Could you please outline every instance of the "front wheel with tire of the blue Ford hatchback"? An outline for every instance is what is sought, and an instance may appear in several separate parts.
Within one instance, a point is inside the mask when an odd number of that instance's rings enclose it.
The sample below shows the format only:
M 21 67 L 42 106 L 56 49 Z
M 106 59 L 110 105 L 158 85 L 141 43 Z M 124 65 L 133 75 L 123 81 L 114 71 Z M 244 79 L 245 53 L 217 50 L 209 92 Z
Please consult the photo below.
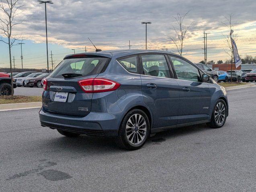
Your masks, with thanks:
M 211 128 L 221 128 L 227 119 L 227 105 L 224 100 L 217 100 L 211 114 L 211 122 L 207 123 Z

